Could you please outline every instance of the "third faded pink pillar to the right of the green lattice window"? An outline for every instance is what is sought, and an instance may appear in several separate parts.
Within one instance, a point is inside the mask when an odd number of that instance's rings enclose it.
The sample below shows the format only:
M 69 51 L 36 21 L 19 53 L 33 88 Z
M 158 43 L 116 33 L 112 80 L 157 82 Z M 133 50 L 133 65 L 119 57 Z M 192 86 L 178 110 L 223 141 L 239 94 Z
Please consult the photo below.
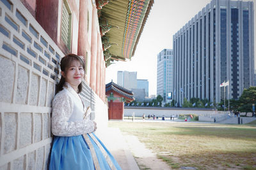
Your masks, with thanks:
M 100 33 L 98 33 L 97 37 L 97 64 L 96 64 L 96 94 L 100 96 L 100 63 L 101 63 L 101 48 L 100 46 L 102 45 L 101 43 L 101 36 Z

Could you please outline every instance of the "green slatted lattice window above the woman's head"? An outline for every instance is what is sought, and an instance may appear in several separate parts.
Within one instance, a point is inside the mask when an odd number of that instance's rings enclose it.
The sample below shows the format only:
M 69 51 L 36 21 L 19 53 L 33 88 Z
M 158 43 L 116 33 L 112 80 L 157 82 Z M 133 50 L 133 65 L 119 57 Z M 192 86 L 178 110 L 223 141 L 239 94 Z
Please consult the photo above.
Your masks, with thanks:
M 72 23 L 72 14 L 68 3 L 66 0 L 63 0 L 62 6 L 62 21 L 61 21 L 61 39 L 67 45 L 70 50 L 71 46 L 71 23 Z

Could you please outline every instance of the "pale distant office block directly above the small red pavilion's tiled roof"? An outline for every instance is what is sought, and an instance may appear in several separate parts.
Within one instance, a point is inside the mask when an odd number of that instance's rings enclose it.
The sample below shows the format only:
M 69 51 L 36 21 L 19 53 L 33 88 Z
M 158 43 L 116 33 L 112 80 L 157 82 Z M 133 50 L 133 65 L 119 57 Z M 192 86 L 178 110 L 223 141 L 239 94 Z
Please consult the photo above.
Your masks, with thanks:
M 129 71 L 118 71 L 117 72 L 117 84 L 126 89 L 136 89 L 137 88 L 137 72 Z

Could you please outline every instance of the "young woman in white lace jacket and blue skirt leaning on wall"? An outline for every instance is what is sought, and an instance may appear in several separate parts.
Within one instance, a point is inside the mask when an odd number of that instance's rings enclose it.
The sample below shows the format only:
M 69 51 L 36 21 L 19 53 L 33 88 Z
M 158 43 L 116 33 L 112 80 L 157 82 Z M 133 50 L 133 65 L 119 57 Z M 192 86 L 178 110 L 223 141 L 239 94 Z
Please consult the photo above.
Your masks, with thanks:
M 61 59 L 61 80 L 52 101 L 52 134 L 49 169 L 121 169 L 102 142 L 93 134 L 94 121 L 86 117 L 82 91 L 84 62 L 69 54 Z M 87 111 L 87 114 L 89 114 Z

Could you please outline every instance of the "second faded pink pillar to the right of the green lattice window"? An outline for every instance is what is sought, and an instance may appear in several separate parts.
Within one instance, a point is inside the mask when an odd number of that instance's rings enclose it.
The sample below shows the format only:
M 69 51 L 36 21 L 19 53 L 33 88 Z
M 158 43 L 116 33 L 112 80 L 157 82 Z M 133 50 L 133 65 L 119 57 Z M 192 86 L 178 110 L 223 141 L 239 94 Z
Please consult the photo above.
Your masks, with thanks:
M 96 90 L 96 62 L 97 62 L 97 9 L 93 6 L 92 9 L 92 46 L 91 46 L 91 73 L 90 73 L 90 87 L 93 91 Z

